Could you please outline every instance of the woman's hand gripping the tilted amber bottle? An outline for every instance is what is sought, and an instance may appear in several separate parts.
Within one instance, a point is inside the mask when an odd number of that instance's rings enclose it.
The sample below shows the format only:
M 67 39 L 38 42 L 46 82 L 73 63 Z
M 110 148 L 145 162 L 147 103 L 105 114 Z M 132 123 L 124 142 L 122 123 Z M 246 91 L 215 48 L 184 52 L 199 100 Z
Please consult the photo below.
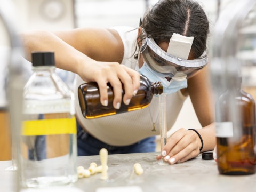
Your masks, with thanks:
M 83 66 L 77 74 L 86 82 L 97 82 L 100 90 L 100 102 L 103 106 L 108 105 L 107 83 L 113 86 L 114 100 L 113 106 L 119 109 L 122 102 L 122 84 L 125 94 L 123 102 L 129 105 L 133 95 L 140 86 L 140 75 L 138 71 L 128 68 L 118 62 L 98 62 L 90 63 L 90 66 Z

